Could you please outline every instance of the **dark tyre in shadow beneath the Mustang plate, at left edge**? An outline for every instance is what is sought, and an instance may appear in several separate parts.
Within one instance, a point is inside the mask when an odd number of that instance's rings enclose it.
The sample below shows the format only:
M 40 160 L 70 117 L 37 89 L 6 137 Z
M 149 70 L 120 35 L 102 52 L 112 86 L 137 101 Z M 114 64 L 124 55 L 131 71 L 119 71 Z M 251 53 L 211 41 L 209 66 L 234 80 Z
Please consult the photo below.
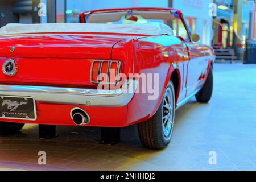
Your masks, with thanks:
M 9 123 L 9 122 L 0 122 L 0 135 L 7 136 L 18 133 L 24 124 L 22 123 Z

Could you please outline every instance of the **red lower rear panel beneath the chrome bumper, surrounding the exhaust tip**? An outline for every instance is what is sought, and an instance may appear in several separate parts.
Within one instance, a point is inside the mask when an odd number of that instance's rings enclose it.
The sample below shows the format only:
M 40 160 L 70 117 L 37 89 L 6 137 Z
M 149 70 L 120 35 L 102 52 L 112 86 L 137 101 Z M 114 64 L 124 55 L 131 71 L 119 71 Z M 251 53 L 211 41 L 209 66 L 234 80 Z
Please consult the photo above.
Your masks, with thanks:
M 36 102 L 36 121 L 1 119 L 3 122 L 29 123 L 40 125 L 77 126 L 70 115 L 73 108 L 79 107 L 86 111 L 90 117 L 88 125 L 95 127 L 126 127 L 127 106 L 122 107 L 91 107 L 77 105 L 61 105 L 44 102 Z

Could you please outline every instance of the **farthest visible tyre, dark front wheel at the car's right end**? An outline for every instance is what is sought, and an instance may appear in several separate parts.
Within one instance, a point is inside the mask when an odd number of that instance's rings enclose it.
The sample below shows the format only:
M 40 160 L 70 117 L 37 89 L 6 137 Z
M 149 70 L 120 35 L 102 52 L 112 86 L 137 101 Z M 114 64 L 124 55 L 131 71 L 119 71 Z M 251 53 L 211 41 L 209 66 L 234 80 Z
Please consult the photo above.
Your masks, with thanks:
M 207 103 L 212 98 L 213 92 L 213 72 L 212 66 L 210 66 L 207 81 L 204 84 L 203 89 L 200 90 L 199 93 L 196 94 L 196 100 L 201 103 Z

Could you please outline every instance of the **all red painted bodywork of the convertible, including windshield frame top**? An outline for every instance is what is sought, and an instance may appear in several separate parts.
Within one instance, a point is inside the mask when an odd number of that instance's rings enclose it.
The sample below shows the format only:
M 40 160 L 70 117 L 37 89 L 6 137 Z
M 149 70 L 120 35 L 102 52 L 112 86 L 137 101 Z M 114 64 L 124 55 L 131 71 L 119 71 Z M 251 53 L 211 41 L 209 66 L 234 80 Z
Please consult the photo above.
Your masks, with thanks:
M 121 10 L 128 9 L 90 12 Z M 151 11 L 152 8 L 136 10 Z M 180 11 L 177 12 L 181 15 Z M 80 15 L 81 22 L 83 17 L 84 13 Z M 136 93 L 130 103 L 122 107 L 36 102 L 38 119 L 31 123 L 47 125 L 74 125 L 69 115 L 73 107 L 80 107 L 89 114 L 91 122 L 86 126 L 125 127 L 146 121 L 156 113 L 174 71 L 179 75 L 176 101 L 181 102 L 203 86 L 214 59 L 212 48 L 168 35 L 56 32 L 1 36 L 0 44 L 0 64 L 14 59 L 19 65 L 18 73 L 13 77 L 0 73 L 1 84 L 97 88 L 96 84 L 90 83 L 90 68 L 94 59 L 119 60 L 126 75 L 159 74 L 159 96 L 156 100 L 148 100 L 148 93 Z M 13 53 L 9 51 L 11 46 L 16 47 Z M 138 89 L 142 89 L 141 86 Z

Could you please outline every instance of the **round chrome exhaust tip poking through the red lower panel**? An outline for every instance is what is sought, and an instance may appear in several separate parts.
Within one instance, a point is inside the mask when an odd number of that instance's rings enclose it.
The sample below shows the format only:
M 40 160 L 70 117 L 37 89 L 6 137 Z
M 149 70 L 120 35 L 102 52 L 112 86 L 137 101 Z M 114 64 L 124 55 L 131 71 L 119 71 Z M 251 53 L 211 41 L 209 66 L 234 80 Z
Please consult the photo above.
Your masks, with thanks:
M 89 115 L 80 108 L 74 108 L 70 112 L 71 118 L 73 122 L 80 126 L 80 125 L 87 125 L 90 122 Z

